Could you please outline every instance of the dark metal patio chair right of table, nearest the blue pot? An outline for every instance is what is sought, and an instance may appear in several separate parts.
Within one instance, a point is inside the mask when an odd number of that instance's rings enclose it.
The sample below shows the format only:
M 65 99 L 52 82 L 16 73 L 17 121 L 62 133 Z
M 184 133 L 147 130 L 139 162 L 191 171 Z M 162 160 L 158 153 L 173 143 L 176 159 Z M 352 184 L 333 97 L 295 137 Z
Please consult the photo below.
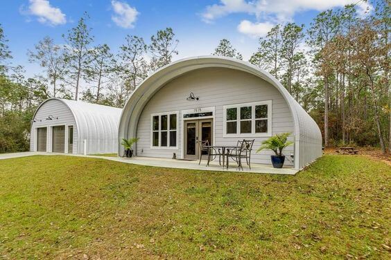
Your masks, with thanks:
M 243 170 L 242 159 L 245 159 L 248 167 L 251 169 L 251 151 L 254 140 L 238 140 L 238 144 L 233 149 L 227 151 L 227 169 L 229 167 L 229 158 L 232 158 L 237 164 L 238 168 Z

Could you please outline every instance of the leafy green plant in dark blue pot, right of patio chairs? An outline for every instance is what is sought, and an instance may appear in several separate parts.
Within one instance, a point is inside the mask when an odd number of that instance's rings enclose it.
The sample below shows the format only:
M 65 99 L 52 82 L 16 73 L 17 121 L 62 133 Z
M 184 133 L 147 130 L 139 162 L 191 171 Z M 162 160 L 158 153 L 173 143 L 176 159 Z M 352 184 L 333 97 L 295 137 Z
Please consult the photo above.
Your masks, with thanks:
M 262 151 L 263 149 L 270 149 L 275 152 L 275 155 L 270 156 L 272 159 L 272 165 L 275 168 L 282 168 L 284 166 L 285 156 L 282 154 L 282 150 L 289 145 L 292 145 L 292 141 L 288 141 L 290 133 L 277 133 L 275 136 L 264 140 L 261 147 L 257 150 Z

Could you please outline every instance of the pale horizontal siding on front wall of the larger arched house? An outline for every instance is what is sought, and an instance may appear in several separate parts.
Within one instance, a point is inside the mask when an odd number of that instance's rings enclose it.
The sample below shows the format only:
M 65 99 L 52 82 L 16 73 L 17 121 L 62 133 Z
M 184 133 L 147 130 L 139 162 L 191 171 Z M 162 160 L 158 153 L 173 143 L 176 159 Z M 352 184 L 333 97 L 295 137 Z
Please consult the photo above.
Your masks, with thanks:
M 197 102 L 187 101 L 186 97 L 193 92 L 200 97 Z M 171 158 L 175 152 L 180 158 L 182 155 L 182 114 L 180 113 L 178 149 L 150 149 L 150 114 L 167 111 L 181 111 L 184 109 L 215 106 L 215 144 L 236 145 L 243 138 L 223 138 L 223 106 L 272 100 L 272 134 L 294 131 L 293 117 L 284 97 L 270 83 L 259 77 L 228 68 L 207 68 L 192 71 L 166 84 L 150 99 L 144 107 L 137 126 L 137 156 Z M 253 139 L 252 137 L 244 137 Z M 254 163 L 270 164 L 270 151 L 255 153 L 262 140 L 255 138 Z M 290 137 L 293 140 L 293 136 Z M 289 161 L 293 153 L 293 146 L 286 148 L 284 154 L 288 156 L 286 165 L 293 165 Z

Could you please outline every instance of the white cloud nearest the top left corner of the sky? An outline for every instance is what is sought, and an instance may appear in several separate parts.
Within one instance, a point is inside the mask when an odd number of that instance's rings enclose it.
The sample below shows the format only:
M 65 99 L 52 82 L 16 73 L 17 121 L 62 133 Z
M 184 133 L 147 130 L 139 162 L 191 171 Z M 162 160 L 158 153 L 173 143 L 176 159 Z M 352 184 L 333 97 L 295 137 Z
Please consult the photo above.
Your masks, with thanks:
M 42 24 L 57 26 L 66 24 L 67 19 L 60 8 L 51 6 L 49 0 L 29 0 L 30 5 L 25 11 L 26 15 L 36 16 Z

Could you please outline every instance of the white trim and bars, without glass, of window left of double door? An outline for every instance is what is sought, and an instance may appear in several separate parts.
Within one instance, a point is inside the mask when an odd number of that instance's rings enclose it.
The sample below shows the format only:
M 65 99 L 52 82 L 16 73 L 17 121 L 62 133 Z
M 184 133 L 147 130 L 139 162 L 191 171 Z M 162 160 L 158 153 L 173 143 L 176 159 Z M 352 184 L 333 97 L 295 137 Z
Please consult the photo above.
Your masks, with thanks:
M 159 130 L 153 130 L 153 117 L 158 115 L 159 116 Z M 162 147 L 162 115 L 167 115 L 167 129 L 163 130 L 167 132 L 167 146 Z M 177 115 L 177 128 L 175 130 L 170 130 L 170 115 Z M 175 144 L 175 147 L 170 146 L 170 132 L 176 131 L 176 139 L 177 142 Z M 153 146 L 153 133 L 158 132 L 159 133 L 159 146 Z M 168 112 L 161 112 L 161 113 L 151 113 L 150 114 L 150 149 L 166 149 L 166 150 L 177 150 L 178 149 L 178 133 L 179 132 L 179 111 L 168 111 Z

